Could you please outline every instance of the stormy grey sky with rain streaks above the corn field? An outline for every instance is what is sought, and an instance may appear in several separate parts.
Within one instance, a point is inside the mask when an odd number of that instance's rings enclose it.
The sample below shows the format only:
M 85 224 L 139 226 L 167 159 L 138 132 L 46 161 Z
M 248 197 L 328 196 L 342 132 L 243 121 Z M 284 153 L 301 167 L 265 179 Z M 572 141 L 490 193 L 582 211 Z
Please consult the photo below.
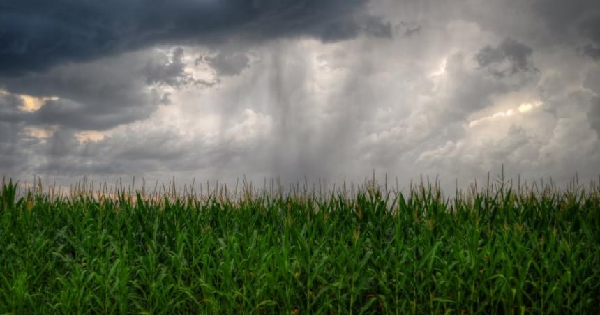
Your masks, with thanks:
M 8 0 L 0 175 L 600 176 L 597 0 Z

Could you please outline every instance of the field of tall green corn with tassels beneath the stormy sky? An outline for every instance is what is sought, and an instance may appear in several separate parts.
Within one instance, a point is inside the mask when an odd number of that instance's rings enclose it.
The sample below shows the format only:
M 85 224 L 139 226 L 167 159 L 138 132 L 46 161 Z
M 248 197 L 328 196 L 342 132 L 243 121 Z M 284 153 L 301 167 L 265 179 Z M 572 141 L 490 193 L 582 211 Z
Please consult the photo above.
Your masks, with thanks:
M 0 314 L 593 314 L 600 187 L 3 183 Z

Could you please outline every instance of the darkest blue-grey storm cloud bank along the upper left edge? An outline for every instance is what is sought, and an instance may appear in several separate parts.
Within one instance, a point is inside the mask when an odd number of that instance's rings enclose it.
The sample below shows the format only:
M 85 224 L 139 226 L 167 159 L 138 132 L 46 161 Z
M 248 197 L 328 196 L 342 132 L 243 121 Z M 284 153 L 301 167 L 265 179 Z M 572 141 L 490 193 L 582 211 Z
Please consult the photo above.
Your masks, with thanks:
M 368 0 L 24 0 L 0 3 L 0 75 L 157 44 L 389 36 Z

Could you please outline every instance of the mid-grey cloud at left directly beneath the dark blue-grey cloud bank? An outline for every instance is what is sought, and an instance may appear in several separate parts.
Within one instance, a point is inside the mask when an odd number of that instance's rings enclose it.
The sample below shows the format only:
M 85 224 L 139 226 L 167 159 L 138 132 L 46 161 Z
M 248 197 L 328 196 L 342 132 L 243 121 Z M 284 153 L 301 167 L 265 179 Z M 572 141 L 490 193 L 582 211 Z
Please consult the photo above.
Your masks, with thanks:
M 3 119 L 31 125 L 60 125 L 79 130 L 105 130 L 147 118 L 167 95 L 147 86 L 144 67 L 156 58 L 149 54 L 126 54 L 92 63 L 57 66 L 43 73 L 5 78 L 0 89 L 13 94 L 56 96 L 35 112 L 11 109 Z M 167 65 L 168 67 L 169 65 Z M 161 73 L 156 79 L 182 84 L 180 73 Z M 16 96 L 14 96 L 16 97 Z M 2 106 L 3 112 L 8 110 Z M 14 108 L 14 107 L 13 107 Z

